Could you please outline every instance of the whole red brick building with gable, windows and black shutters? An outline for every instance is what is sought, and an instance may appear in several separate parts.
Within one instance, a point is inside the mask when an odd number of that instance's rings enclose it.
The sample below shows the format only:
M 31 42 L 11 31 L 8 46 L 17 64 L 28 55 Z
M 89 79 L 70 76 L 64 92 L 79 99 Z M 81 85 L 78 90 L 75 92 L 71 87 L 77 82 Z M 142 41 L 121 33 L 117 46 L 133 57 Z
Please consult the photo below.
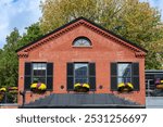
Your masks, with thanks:
M 87 94 L 112 94 L 145 105 L 146 52 L 80 17 L 17 50 L 18 90 L 25 91 L 25 103 L 29 103 L 50 94 L 76 94 L 74 84 L 87 82 Z M 35 78 L 47 85 L 45 94 L 30 92 Z M 121 82 L 131 82 L 134 90 L 120 93 Z M 18 104 L 22 102 L 18 94 Z

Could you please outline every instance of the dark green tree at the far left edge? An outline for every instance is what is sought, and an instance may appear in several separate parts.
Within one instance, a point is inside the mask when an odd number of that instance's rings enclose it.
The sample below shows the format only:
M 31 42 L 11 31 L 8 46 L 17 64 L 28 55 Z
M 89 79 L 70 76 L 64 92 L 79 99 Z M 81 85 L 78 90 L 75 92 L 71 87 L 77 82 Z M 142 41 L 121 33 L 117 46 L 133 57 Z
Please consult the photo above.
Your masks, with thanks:
M 17 84 L 17 55 L 15 53 L 17 41 L 21 39 L 16 28 L 7 37 L 0 60 L 0 86 L 16 86 Z

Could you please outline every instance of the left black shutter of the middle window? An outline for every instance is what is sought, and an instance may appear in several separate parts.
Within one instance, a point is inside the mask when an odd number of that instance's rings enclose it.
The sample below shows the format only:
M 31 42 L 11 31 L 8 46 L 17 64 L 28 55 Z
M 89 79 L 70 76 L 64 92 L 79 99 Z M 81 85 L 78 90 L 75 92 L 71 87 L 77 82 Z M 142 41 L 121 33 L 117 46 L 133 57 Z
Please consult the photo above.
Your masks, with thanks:
M 66 85 L 67 90 L 74 89 L 74 63 L 67 63 L 66 66 Z

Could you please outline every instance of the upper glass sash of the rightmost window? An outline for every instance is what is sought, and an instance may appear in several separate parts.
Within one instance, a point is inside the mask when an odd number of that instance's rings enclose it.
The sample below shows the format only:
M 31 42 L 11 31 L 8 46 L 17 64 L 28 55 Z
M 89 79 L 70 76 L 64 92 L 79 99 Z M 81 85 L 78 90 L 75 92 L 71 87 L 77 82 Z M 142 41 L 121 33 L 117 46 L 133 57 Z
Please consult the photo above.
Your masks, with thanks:
M 130 77 L 131 64 L 117 64 L 117 76 Z

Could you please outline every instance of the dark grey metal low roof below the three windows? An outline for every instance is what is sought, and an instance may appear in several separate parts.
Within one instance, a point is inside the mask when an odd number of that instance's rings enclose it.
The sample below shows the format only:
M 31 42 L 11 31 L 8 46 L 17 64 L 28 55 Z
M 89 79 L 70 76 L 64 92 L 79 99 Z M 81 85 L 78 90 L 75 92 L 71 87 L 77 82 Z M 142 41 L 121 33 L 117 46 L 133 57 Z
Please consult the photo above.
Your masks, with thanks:
M 20 107 L 145 107 L 111 93 L 53 93 Z

